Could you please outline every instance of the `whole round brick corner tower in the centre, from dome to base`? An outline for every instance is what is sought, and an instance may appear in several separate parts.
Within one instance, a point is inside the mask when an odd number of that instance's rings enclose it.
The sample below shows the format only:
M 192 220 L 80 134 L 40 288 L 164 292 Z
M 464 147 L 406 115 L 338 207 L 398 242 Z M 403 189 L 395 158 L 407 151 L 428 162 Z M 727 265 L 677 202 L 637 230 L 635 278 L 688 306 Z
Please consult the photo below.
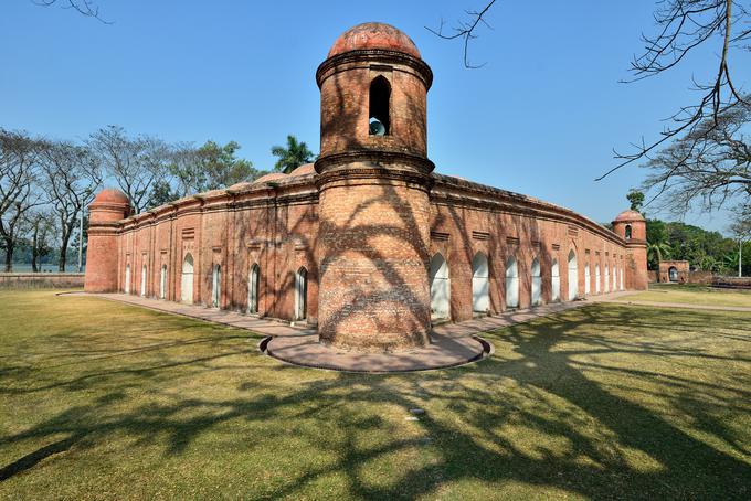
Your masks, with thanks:
M 316 72 L 322 343 L 362 351 L 429 343 L 432 79 L 412 40 L 382 23 L 345 32 Z

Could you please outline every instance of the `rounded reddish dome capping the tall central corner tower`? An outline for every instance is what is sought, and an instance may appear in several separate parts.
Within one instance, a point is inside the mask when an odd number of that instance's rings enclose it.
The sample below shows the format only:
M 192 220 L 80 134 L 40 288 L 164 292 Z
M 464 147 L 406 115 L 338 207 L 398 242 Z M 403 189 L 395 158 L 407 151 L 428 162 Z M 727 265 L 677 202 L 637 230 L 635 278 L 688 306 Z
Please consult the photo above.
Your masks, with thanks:
M 420 58 L 420 51 L 412 39 L 391 24 L 380 22 L 358 24 L 343 32 L 331 45 L 328 57 L 367 49 L 403 52 Z

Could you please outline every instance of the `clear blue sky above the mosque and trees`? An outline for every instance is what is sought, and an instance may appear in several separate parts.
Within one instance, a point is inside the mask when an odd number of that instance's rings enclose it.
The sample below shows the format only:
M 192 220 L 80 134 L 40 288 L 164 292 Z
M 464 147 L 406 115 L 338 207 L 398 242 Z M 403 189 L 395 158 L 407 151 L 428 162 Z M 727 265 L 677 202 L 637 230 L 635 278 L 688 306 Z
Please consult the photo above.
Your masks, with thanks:
M 599 222 L 627 207 L 643 169 L 612 149 L 654 138 L 660 119 L 697 98 L 691 76 L 716 71 L 717 47 L 636 84 L 628 63 L 654 30 L 654 1 L 499 1 L 472 46 L 425 25 L 448 24 L 483 0 L 255 2 L 98 0 L 107 25 L 71 10 L 6 0 L 0 8 L 0 126 L 84 138 L 117 124 L 169 141 L 236 140 L 257 168 L 294 134 L 318 151 L 315 71 L 335 39 L 366 21 L 391 23 L 435 74 L 429 156 L 437 171 L 529 194 Z M 731 61 L 732 64 L 732 61 Z M 734 65 L 737 79 L 751 70 Z M 724 230 L 726 213 L 685 221 Z

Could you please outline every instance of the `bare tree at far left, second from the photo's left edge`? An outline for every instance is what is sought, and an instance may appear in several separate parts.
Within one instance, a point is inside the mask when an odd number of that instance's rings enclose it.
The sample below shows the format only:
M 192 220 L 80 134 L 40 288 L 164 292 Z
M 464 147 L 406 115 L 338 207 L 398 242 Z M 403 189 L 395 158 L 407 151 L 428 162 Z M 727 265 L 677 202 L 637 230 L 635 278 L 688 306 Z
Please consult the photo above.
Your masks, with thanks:
M 59 269 L 65 271 L 71 237 L 102 185 L 102 169 L 88 148 L 71 142 L 45 141 L 40 158 L 46 201 L 60 231 Z

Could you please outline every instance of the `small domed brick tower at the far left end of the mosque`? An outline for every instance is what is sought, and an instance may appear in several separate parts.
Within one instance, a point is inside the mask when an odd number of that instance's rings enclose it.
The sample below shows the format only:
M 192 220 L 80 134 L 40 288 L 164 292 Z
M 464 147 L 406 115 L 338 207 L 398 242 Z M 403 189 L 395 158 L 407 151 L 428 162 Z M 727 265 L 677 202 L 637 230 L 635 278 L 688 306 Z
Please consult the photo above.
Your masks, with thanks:
M 130 202 L 119 190 L 102 191 L 88 206 L 86 292 L 117 291 L 117 223 L 128 215 Z

